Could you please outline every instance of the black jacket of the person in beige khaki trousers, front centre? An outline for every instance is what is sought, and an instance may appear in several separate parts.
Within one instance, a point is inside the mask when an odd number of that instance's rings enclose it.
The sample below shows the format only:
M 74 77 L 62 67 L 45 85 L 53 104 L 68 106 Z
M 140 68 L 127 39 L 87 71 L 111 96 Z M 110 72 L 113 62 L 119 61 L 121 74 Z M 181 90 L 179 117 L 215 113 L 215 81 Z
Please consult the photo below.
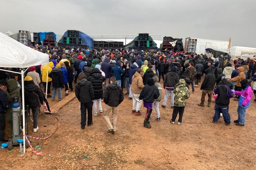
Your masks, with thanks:
M 122 88 L 116 83 L 109 84 L 105 88 L 103 100 L 105 104 L 111 107 L 117 107 L 124 100 Z

